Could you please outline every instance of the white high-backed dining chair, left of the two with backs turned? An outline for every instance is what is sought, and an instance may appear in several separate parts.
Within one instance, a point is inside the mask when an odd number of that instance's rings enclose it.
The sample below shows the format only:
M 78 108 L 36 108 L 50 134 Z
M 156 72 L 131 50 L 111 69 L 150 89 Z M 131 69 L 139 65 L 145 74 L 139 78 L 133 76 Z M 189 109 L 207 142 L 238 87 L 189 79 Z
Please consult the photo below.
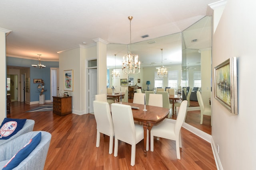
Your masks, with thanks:
M 108 153 L 113 152 L 113 139 L 114 139 L 114 126 L 110 113 L 110 107 L 108 102 L 93 101 L 94 117 L 97 124 L 97 137 L 96 147 L 100 146 L 100 133 L 109 136 L 109 150 Z

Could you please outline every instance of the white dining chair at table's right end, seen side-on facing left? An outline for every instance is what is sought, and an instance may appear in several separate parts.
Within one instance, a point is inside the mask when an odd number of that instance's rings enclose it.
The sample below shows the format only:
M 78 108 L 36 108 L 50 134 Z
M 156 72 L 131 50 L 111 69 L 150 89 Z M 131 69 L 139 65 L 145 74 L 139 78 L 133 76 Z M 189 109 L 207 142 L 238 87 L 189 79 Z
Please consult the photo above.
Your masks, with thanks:
M 177 159 L 180 159 L 181 133 L 180 129 L 184 122 L 188 101 L 184 100 L 180 105 L 176 121 L 164 119 L 158 125 L 154 125 L 150 131 L 150 150 L 154 151 L 154 136 L 176 141 Z

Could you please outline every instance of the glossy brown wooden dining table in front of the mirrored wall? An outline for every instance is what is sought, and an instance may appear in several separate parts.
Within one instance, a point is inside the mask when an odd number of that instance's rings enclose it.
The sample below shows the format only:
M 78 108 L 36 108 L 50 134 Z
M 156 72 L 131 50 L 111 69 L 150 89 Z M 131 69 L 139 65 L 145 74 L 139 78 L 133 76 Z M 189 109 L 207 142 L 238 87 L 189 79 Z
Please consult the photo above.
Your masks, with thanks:
M 144 105 L 142 104 L 134 104 L 134 103 L 126 103 L 120 102 L 120 104 L 130 105 L 131 107 L 137 107 L 136 109 L 132 108 L 132 115 L 134 121 L 142 122 L 144 129 L 144 155 L 146 156 L 146 139 L 147 139 L 147 130 L 148 130 L 148 143 L 150 150 L 150 130 L 152 127 L 161 121 L 163 121 L 169 114 L 170 110 L 163 107 L 149 106 L 146 105 L 146 110 L 143 111 Z M 111 109 L 111 106 L 110 106 Z

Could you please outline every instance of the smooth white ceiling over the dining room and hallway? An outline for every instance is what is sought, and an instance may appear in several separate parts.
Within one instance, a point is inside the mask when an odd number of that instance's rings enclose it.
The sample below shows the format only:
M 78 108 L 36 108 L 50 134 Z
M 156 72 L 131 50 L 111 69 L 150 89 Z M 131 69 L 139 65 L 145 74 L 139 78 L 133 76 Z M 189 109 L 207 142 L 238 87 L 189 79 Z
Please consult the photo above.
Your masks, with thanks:
M 208 4 L 218 1 L 1 0 L 0 28 L 11 31 L 6 37 L 7 56 L 37 60 L 41 54 L 42 61 L 58 61 L 57 52 L 90 45 L 97 38 L 118 44 L 127 52 L 128 16 L 134 17 L 132 43 L 138 43 L 183 31 L 211 15 Z M 160 48 L 164 49 L 157 47 L 156 51 L 161 57 Z

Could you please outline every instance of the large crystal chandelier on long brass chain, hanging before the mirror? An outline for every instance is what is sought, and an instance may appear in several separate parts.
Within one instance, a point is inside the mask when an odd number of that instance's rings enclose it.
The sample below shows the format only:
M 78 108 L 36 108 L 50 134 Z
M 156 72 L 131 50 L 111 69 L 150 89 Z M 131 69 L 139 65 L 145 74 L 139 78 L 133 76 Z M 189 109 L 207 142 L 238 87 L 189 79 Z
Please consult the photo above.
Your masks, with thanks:
M 138 55 L 132 54 L 132 31 L 131 31 L 131 21 L 132 16 L 129 16 L 130 20 L 130 52 L 124 55 L 122 61 L 122 72 L 125 74 L 138 74 L 140 72 L 140 61 L 138 61 Z

